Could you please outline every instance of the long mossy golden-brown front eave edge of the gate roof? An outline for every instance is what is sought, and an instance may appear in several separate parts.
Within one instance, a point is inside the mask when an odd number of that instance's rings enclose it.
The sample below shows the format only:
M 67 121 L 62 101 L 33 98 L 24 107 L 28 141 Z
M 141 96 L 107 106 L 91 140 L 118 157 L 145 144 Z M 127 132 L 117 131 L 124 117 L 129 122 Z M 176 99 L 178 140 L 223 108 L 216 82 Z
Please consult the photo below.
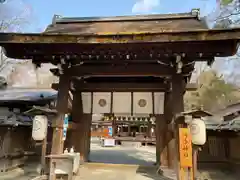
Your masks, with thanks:
M 146 43 L 146 42 L 186 42 L 186 41 L 211 41 L 229 40 L 240 37 L 240 29 L 199 29 L 199 30 L 173 30 L 164 29 L 154 32 L 122 32 L 102 34 L 23 34 L 0 33 L 0 45 L 9 43 L 25 44 L 82 44 L 82 43 Z

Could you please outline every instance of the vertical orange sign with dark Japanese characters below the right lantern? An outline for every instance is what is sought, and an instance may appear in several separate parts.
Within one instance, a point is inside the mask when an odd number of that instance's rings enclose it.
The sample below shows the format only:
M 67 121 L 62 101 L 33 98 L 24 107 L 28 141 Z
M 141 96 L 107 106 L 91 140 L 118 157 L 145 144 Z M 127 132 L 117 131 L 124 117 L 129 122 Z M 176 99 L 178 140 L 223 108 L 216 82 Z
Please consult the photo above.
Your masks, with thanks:
M 188 128 L 179 129 L 179 147 L 181 167 L 192 167 L 192 141 Z

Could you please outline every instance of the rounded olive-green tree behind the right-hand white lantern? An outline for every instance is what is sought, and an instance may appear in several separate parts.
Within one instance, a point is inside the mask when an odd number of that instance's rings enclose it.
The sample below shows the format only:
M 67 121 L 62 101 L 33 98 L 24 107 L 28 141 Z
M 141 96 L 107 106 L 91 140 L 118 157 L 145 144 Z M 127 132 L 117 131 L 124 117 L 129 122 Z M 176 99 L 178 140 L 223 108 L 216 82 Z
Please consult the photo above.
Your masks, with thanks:
M 185 108 L 214 111 L 240 100 L 238 88 L 226 82 L 214 70 L 208 70 L 198 77 L 198 89 L 185 94 Z

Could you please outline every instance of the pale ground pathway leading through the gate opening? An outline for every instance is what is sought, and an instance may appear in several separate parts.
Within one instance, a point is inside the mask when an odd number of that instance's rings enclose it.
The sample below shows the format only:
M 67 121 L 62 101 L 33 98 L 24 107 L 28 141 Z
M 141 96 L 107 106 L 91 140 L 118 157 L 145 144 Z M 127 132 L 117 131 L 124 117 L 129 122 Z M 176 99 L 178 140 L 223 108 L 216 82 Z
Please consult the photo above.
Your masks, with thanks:
M 80 167 L 76 180 L 169 180 L 157 175 L 155 147 L 135 145 L 101 147 L 98 139 L 92 138 L 91 162 Z M 165 173 L 173 179 L 176 176 L 172 170 Z

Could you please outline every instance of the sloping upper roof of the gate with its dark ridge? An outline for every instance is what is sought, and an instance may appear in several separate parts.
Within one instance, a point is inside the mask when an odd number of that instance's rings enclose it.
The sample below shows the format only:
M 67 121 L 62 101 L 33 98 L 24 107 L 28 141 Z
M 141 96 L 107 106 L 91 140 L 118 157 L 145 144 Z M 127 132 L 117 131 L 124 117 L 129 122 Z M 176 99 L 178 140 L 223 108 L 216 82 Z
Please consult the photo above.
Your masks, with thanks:
M 118 34 L 129 32 L 187 31 L 207 29 L 198 13 L 155 14 L 117 17 L 72 17 L 55 16 L 47 34 Z

